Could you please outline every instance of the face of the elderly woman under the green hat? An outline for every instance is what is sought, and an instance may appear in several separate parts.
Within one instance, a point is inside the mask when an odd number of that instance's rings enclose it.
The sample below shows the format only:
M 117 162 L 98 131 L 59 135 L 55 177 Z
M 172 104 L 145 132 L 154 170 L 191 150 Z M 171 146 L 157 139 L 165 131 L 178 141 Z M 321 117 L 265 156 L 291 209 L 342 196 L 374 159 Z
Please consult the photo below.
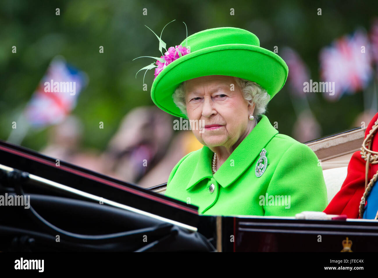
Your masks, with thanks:
M 198 121 L 201 129 L 192 131 L 208 147 L 231 148 L 245 132 L 254 104 L 244 99 L 232 76 L 211 75 L 185 82 L 188 119 Z M 198 124 L 198 123 L 197 123 Z

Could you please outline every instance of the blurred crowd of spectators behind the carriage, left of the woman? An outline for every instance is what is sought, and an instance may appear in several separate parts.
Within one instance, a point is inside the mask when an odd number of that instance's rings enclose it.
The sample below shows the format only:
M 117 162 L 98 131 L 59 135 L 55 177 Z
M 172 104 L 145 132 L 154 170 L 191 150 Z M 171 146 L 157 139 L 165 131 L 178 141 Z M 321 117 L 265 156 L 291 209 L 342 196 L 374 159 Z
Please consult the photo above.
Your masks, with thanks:
M 122 119 L 104 152 L 81 149 L 84 126 L 75 116 L 51 127 L 42 154 L 149 188 L 168 180 L 177 162 L 202 148 L 191 130 L 173 130 L 173 118 L 155 106 L 137 107 Z

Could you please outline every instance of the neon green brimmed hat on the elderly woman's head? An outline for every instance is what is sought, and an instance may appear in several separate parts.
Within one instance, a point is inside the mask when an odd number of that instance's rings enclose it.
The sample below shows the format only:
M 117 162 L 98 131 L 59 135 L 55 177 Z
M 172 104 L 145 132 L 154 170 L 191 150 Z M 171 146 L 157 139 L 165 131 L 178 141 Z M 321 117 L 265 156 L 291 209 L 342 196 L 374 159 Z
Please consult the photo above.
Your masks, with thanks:
M 192 34 L 180 45 L 187 45 L 190 53 L 180 54 L 161 69 L 151 88 L 151 98 L 156 106 L 174 116 L 187 118 L 174 103 L 172 95 L 181 82 L 192 78 L 208 75 L 243 78 L 259 84 L 271 98 L 286 82 L 289 70 L 285 61 L 260 47 L 259 38 L 247 30 L 207 29 Z

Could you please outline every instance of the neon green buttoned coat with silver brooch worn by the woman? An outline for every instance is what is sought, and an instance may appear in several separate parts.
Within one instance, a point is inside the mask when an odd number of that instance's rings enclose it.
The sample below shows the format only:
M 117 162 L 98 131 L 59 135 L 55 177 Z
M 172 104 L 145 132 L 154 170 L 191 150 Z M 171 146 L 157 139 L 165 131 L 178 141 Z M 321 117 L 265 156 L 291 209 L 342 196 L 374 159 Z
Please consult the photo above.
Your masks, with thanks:
M 256 165 L 265 149 L 265 172 Z M 206 215 L 295 216 L 327 206 L 322 167 L 305 144 L 279 134 L 262 115 L 257 126 L 212 174 L 206 146 L 185 155 L 169 175 L 166 196 L 199 207 Z M 212 190 L 214 189 L 214 190 Z

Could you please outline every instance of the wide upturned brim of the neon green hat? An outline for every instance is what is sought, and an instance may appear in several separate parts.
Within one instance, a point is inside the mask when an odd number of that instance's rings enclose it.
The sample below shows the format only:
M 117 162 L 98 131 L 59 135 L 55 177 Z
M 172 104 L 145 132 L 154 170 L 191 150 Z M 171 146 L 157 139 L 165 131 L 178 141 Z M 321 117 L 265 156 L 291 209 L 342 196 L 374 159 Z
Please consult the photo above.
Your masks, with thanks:
M 166 66 L 151 88 L 152 101 L 174 116 L 187 118 L 172 95 L 181 82 L 208 75 L 226 75 L 256 82 L 271 96 L 282 89 L 288 75 L 283 59 L 272 51 L 247 44 L 226 44 L 186 54 Z

